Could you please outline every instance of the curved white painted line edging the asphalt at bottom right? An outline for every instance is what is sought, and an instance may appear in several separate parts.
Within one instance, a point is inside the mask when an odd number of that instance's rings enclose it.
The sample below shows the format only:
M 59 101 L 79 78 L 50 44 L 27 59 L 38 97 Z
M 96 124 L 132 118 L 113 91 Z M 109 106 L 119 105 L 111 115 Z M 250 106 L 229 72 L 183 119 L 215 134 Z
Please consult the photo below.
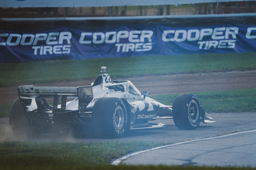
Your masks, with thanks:
M 242 131 L 242 132 L 232 133 L 232 134 L 229 134 L 229 135 L 221 135 L 221 136 L 210 137 L 210 138 L 205 138 L 205 139 L 197 139 L 197 140 L 188 140 L 188 141 L 180 142 L 180 143 L 176 143 L 176 144 L 155 147 L 155 148 L 152 148 L 152 149 L 149 149 L 149 150 L 141 150 L 139 152 L 134 152 L 132 154 L 128 154 L 128 155 L 123 156 L 122 158 L 114 160 L 112 162 L 112 165 L 119 165 L 123 160 L 126 160 L 127 158 L 129 158 L 133 155 L 138 155 L 138 154 L 148 152 L 148 151 L 151 151 L 151 150 L 158 150 L 158 149 L 162 149 L 162 148 L 165 148 L 165 147 L 181 145 L 181 144 L 185 144 L 185 143 L 189 143 L 189 142 L 195 142 L 195 141 L 201 141 L 201 140 L 211 140 L 211 139 L 217 139 L 217 138 L 222 138 L 222 137 L 226 137 L 226 136 L 238 135 L 238 134 L 242 134 L 242 133 L 249 133 L 249 132 L 255 132 L 255 131 L 256 130 Z

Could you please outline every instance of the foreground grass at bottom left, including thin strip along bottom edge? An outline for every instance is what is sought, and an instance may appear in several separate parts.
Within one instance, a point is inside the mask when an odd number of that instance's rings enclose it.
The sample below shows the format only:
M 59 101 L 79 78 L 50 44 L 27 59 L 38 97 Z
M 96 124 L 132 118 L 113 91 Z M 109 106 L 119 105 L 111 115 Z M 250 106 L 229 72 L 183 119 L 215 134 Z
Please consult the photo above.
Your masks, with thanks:
M 160 143 L 145 142 L 3 142 L 1 170 L 252 170 L 251 167 L 198 167 L 166 165 L 110 165 L 111 160 L 130 152 L 146 150 Z

